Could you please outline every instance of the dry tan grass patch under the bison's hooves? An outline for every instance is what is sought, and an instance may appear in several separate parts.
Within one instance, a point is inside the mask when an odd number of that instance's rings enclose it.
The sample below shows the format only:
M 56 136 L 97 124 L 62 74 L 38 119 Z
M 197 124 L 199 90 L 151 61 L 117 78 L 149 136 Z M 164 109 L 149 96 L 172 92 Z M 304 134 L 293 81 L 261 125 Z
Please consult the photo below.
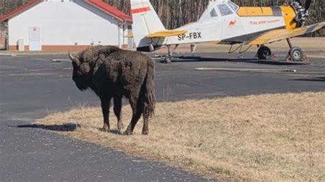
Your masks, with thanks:
M 126 125 L 130 108 L 123 112 Z M 75 131 L 60 133 L 205 177 L 325 181 L 325 92 L 158 103 L 148 136 L 141 135 L 142 122 L 132 136 L 101 132 L 101 120 L 99 108 L 84 108 L 36 123 L 75 123 Z

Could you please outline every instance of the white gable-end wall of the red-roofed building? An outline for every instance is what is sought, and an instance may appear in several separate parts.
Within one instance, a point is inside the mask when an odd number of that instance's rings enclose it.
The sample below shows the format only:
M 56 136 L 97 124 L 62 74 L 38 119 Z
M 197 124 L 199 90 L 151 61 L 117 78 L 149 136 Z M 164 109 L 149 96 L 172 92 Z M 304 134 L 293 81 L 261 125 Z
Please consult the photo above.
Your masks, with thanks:
M 8 22 L 10 49 L 17 47 L 19 39 L 23 39 L 28 49 L 30 27 L 40 27 L 44 50 L 123 44 L 118 21 L 79 0 L 47 0 L 11 18 Z

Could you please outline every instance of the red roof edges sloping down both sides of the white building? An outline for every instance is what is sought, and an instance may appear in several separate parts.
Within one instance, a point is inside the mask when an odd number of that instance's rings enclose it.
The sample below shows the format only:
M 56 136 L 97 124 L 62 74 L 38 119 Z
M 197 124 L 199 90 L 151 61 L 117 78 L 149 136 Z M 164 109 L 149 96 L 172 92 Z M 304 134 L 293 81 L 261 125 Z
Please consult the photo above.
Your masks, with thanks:
M 12 10 L 11 12 L 4 14 L 3 16 L 0 16 L 0 21 L 7 21 L 8 19 L 12 18 L 13 16 L 16 16 L 18 14 L 21 14 L 21 12 L 24 12 L 25 10 L 34 7 L 34 5 L 43 2 L 40 0 L 29 0 L 24 5 L 19 6 L 15 10 Z M 121 12 L 120 10 L 117 10 L 112 5 L 108 5 L 102 0 L 86 0 L 86 3 L 89 3 L 90 5 L 93 5 L 93 7 L 106 12 L 107 14 L 110 14 L 111 16 L 117 18 L 119 21 L 126 21 L 132 23 L 131 16 L 128 16 L 127 14 Z

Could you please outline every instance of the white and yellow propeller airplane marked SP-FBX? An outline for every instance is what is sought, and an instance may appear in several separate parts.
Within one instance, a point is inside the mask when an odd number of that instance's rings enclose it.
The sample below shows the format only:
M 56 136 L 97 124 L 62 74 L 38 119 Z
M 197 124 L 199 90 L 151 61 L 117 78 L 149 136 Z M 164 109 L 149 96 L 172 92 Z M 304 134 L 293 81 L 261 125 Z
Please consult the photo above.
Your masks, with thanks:
M 300 1 L 291 1 L 275 7 L 239 7 L 230 0 L 210 0 L 199 21 L 167 30 L 149 0 L 131 0 L 134 42 L 138 51 L 168 47 L 165 62 L 169 63 L 173 52 L 171 45 L 217 42 L 239 44 L 240 49 L 243 45 L 248 45 L 248 49 L 257 45 L 258 59 L 265 60 L 272 55 L 265 44 L 286 39 L 288 57 L 300 62 L 304 53 L 292 46 L 290 38 L 325 27 L 325 22 L 306 26 L 310 5 L 311 0 L 304 6 Z

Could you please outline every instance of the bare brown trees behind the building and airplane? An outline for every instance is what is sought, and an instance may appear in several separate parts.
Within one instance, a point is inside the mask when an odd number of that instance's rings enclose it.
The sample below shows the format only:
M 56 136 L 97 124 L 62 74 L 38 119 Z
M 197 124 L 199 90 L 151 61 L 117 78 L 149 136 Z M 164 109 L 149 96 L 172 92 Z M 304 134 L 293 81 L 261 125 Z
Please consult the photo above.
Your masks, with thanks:
M 29 0 L 0 0 L 0 16 L 10 12 L 19 5 Z M 117 9 L 130 14 L 130 0 L 104 0 L 106 3 L 115 6 Z M 208 5 L 209 0 L 150 0 L 158 16 L 168 29 L 180 27 L 186 23 L 197 21 Z M 305 3 L 306 0 L 302 0 Z M 232 2 L 241 6 L 270 6 L 283 5 L 288 1 L 283 0 L 233 0 Z M 325 3 L 323 0 L 312 0 L 309 8 L 311 16 L 309 24 L 325 21 Z M 325 36 L 325 30 L 314 34 Z

